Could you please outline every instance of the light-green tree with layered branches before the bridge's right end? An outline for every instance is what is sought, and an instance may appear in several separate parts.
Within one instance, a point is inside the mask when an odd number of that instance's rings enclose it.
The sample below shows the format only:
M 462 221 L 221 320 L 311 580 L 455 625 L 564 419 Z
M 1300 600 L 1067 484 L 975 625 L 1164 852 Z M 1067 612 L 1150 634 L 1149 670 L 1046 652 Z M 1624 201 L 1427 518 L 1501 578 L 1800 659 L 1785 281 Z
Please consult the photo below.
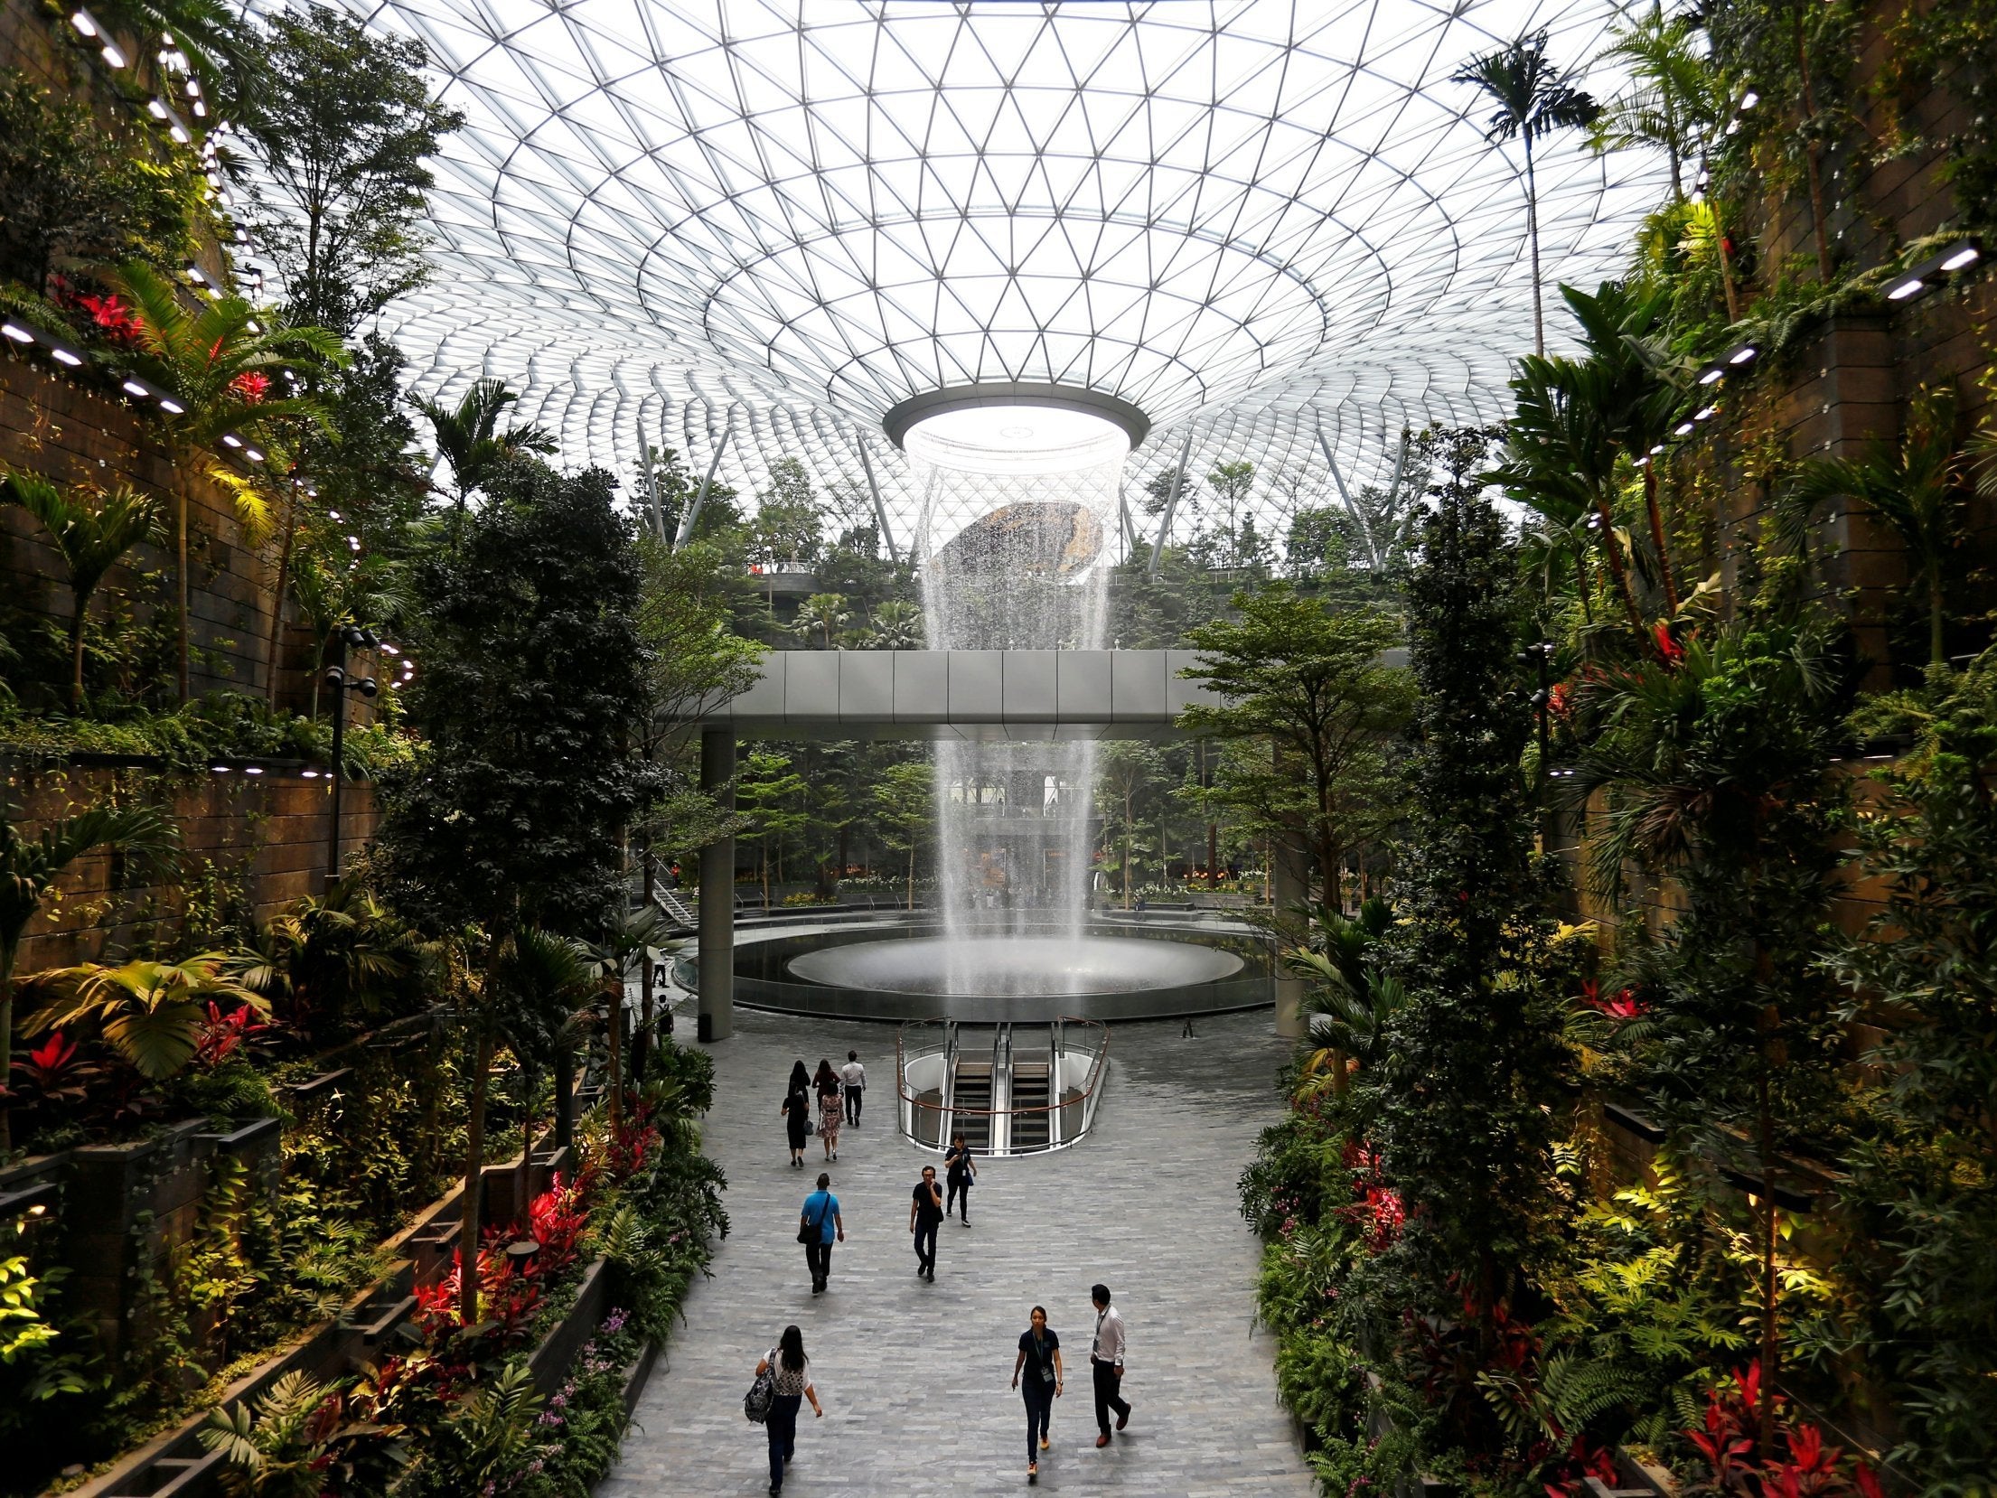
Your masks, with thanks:
M 1340 863 L 1378 805 L 1386 743 L 1412 705 L 1408 673 L 1380 659 L 1400 643 L 1400 623 L 1382 609 L 1330 609 L 1290 581 L 1236 593 L 1234 609 L 1186 631 L 1202 659 L 1184 675 L 1224 701 L 1188 707 L 1180 727 L 1274 741 L 1268 775 L 1222 775 L 1258 817 L 1304 831 L 1322 899 L 1336 905 Z

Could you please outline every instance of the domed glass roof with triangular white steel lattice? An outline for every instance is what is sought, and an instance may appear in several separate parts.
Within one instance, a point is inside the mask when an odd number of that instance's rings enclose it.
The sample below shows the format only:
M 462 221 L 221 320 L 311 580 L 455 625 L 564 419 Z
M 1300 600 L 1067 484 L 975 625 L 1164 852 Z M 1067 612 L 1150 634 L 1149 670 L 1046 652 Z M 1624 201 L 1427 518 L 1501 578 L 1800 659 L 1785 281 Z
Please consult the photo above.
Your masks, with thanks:
M 499 375 L 567 461 L 649 441 L 743 491 L 797 455 L 917 507 L 881 435 L 969 381 L 1136 403 L 1132 479 L 1246 457 L 1262 505 L 1490 419 L 1530 346 L 1516 148 L 1450 74 L 1618 0 L 349 0 L 421 38 L 467 128 L 437 274 L 383 330 L 423 393 Z M 1588 80 L 1598 92 L 1614 78 Z M 1540 156 L 1546 282 L 1616 270 L 1662 194 Z M 863 459 L 863 445 L 867 449 Z M 1282 477 L 1284 483 L 1274 483 Z M 1280 523 L 1280 515 L 1270 515 Z

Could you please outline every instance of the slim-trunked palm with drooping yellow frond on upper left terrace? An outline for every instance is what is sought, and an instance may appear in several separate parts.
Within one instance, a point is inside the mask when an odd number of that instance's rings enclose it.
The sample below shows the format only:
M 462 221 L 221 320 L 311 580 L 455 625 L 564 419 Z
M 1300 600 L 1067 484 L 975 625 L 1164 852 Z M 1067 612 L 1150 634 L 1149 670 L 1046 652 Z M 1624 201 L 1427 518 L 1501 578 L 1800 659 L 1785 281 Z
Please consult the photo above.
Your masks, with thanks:
M 160 435 L 172 463 L 178 689 L 186 701 L 188 505 L 196 455 L 216 453 L 232 443 L 248 447 L 270 441 L 272 431 L 294 421 L 326 427 L 326 409 L 318 399 L 272 391 L 290 364 L 345 364 L 347 356 L 324 328 L 286 328 L 240 296 L 216 298 L 190 312 L 174 284 L 144 262 L 126 264 L 116 282 L 138 318 L 138 348 L 132 354 L 136 372 L 180 405 L 178 415 L 162 421 Z M 246 529 L 258 533 L 270 523 L 270 509 L 254 481 L 220 463 L 208 463 L 208 473 L 236 495 Z M 278 607 L 284 607 L 282 601 Z

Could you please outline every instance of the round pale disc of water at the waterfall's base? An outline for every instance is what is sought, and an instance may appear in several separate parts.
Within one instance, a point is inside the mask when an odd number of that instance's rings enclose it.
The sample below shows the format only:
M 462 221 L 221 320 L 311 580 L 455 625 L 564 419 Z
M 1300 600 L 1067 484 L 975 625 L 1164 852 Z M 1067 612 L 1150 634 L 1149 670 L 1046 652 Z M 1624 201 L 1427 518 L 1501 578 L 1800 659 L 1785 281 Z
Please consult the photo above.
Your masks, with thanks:
M 1078 997 L 1220 983 L 1242 959 L 1218 947 L 1140 937 L 909 937 L 821 947 L 787 963 L 835 989 L 951 999 Z

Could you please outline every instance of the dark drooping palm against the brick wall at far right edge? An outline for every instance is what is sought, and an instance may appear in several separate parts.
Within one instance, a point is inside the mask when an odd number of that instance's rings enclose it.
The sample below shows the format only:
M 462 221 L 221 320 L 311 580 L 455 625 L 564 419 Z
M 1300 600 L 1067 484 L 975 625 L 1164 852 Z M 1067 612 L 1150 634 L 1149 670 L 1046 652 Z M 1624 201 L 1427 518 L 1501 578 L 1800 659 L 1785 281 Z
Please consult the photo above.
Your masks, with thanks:
M 1927 663 L 1947 661 L 1945 585 L 1949 553 L 1963 539 L 1969 469 L 1983 463 L 1975 487 L 1997 493 L 1997 467 L 1985 433 L 1967 447 L 1955 441 L 1955 391 L 1921 387 L 1907 405 L 1907 429 L 1897 441 L 1875 441 L 1863 457 L 1811 457 L 1783 505 L 1783 525 L 1801 539 L 1811 511 L 1825 499 L 1857 499 L 1883 519 L 1907 549 L 1911 583 L 1927 591 Z

